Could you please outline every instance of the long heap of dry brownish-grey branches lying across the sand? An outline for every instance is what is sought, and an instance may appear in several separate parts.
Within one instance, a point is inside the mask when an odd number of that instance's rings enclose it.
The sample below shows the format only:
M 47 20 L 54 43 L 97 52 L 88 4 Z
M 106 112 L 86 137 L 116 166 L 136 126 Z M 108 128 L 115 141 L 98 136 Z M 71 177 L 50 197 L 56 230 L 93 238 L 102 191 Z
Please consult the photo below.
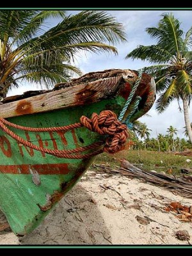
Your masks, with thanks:
M 106 170 L 108 173 L 119 173 L 120 175 L 142 179 L 156 186 L 161 186 L 163 188 L 172 190 L 187 198 L 192 198 L 192 182 L 183 180 L 181 178 L 175 179 L 160 173 L 144 171 L 126 160 L 122 161 L 121 167 L 118 169 L 104 166 L 104 164 L 95 164 L 95 166 L 101 168 L 102 170 Z

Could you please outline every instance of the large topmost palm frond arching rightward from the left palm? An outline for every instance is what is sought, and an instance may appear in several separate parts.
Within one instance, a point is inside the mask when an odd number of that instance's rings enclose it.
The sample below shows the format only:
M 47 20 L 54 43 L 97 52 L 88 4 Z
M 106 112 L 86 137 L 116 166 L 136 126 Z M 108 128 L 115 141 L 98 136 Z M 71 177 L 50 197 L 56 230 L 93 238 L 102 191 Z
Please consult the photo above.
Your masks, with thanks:
M 63 19 L 60 24 L 49 29 L 44 35 L 33 38 L 20 49 L 41 51 L 63 45 L 77 45 L 88 42 L 115 44 L 125 41 L 122 24 L 104 12 L 84 11 Z

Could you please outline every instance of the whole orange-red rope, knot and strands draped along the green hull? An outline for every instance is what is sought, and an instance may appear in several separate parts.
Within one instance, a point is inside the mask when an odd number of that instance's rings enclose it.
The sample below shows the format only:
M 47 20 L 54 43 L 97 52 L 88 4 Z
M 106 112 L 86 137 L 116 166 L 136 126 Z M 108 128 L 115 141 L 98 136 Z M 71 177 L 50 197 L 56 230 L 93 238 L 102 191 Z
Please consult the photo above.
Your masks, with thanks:
M 92 153 L 81 154 L 86 150 L 95 149 L 104 144 L 103 141 L 98 141 L 92 145 L 86 147 L 79 147 L 72 150 L 51 150 L 47 148 L 42 148 L 34 145 L 33 143 L 24 140 L 15 132 L 11 131 L 6 127 L 6 125 L 12 126 L 16 129 L 22 131 L 31 131 L 31 132 L 47 132 L 47 131 L 69 131 L 74 128 L 87 127 L 90 131 L 97 132 L 100 135 L 108 135 L 106 138 L 106 143 L 103 148 L 97 149 Z M 13 124 L 8 122 L 4 118 L 0 118 L 0 127 L 1 129 L 10 135 L 14 140 L 17 140 L 22 145 L 25 145 L 29 148 L 51 154 L 56 157 L 63 157 L 69 159 L 85 159 L 92 156 L 96 156 L 102 152 L 115 153 L 124 148 L 125 141 L 127 140 L 129 134 L 127 132 L 126 125 L 123 125 L 120 121 L 117 120 L 117 117 L 113 111 L 102 111 L 100 115 L 93 113 L 92 119 L 87 118 L 86 116 L 81 116 L 80 122 L 72 125 L 65 125 L 61 127 L 49 127 L 49 128 L 33 128 L 33 127 L 24 127 L 21 125 Z

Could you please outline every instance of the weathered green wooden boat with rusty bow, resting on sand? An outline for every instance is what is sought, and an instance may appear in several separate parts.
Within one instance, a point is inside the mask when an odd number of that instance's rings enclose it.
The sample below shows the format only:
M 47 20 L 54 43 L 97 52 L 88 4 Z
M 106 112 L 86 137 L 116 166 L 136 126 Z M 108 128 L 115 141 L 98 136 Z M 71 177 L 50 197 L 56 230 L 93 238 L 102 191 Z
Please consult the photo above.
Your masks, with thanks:
M 120 115 L 137 79 L 138 72 L 134 70 L 104 70 L 73 79 L 71 83 L 56 84 L 52 90 L 26 92 L 3 100 L 0 105 L 0 209 L 15 234 L 25 235 L 37 227 L 86 172 L 94 155 L 106 150 L 114 133 L 110 120 L 115 120 L 115 114 Z M 138 96 L 138 108 L 132 111 Z M 139 118 L 151 108 L 154 99 L 154 79 L 142 74 L 123 120 L 130 113 L 130 122 Z M 108 117 L 102 112 L 106 110 Z M 93 113 L 98 115 L 92 116 Z M 94 118 L 100 118 L 100 113 L 108 118 L 106 125 L 111 127 L 111 133 L 104 134 L 104 129 L 100 134 L 90 131 L 95 129 Z M 81 124 L 84 122 L 81 116 L 88 117 L 84 117 L 87 125 Z M 71 126 L 76 123 L 79 127 Z M 68 131 L 67 125 L 70 125 Z M 121 129 L 120 125 L 115 129 Z M 124 131 L 124 134 L 127 133 Z M 115 150 L 120 150 L 123 144 Z M 108 145 L 106 151 L 110 151 L 110 147 Z

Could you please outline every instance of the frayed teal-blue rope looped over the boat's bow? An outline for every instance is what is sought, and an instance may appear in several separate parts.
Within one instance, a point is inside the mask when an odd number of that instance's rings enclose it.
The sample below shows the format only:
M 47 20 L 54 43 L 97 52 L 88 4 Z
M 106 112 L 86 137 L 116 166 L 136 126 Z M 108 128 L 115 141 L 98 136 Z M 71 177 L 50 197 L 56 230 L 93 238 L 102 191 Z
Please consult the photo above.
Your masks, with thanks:
M 138 70 L 138 79 L 137 79 L 136 83 L 134 84 L 134 86 L 132 87 L 131 93 L 129 94 L 129 97 L 128 97 L 127 101 L 125 102 L 124 108 L 122 109 L 120 115 L 118 116 L 118 120 L 120 120 L 120 121 L 122 121 L 122 119 L 124 118 L 125 112 L 127 111 L 129 104 L 131 103 L 132 97 L 134 96 L 134 93 L 136 92 L 138 85 L 140 84 L 142 73 L 143 73 L 142 69 Z M 132 115 L 138 108 L 138 104 L 140 103 L 140 100 L 141 100 L 141 97 L 140 97 L 140 99 L 139 99 L 139 97 L 140 96 L 136 97 L 135 106 L 132 109 L 129 116 L 127 116 L 126 120 L 124 121 L 124 123 L 127 124 L 127 127 L 131 126 L 131 123 L 129 124 L 128 117 L 130 118 L 131 117 L 130 115 Z M 129 128 L 129 129 L 131 129 L 131 128 Z

